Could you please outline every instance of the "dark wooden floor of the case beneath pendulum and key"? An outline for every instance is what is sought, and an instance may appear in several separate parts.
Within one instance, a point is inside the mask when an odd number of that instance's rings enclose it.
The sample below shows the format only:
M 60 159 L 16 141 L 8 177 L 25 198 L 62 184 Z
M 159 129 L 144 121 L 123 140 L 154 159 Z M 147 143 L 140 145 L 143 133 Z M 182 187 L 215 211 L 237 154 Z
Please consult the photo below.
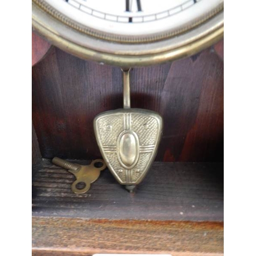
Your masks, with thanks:
M 118 184 L 108 169 L 86 194 L 72 192 L 74 180 L 72 174 L 44 160 L 34 175 L 32 215 L 223 221 L 223 163 L 155 162 L 135 194 Z

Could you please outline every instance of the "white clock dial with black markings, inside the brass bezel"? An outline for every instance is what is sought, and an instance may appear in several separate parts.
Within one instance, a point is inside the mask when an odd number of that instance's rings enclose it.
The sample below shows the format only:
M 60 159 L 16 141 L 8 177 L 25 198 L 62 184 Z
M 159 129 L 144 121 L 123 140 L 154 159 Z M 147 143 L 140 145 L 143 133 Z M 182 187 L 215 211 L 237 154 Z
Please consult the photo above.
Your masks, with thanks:
M 220 0 L 46 0 L 75 22 L 119 35 L 147 35 L 189 25 Z

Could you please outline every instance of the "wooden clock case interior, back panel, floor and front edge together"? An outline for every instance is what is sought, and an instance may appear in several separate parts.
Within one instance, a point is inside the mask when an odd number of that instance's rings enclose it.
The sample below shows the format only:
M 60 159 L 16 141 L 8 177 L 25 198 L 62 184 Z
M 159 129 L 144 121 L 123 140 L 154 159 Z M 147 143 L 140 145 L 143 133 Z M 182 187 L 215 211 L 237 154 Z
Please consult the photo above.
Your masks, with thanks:
M 164 118 L 156 162 L 135 194 L 106 169 L 75 195 L 51 159 L 101 157 L 93 119 L 122 106 L 122 73 L 32 39 L 32 254 L 223 255 L 223 40 L 132 69 L 132 107 Z

